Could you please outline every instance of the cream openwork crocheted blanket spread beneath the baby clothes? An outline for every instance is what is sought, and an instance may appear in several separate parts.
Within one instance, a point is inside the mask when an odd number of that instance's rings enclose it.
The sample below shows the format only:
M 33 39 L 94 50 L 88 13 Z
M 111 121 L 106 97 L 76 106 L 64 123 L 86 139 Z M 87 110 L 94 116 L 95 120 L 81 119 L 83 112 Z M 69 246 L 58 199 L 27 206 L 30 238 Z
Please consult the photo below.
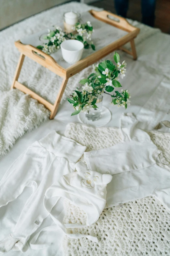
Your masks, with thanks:
M 151 131 L 149 135 L 168 160 L 170 133 Z M 122 140 L 118 128 L 93 128 L 76 123 L 67 125 L 65 136 L 86 145 L 86 151 L 105 148 Z M 88 228 L 72 230 L 96 235 L 99 243 L 86 238 L 64 237 L 64 256 L 170 255 L 170 213 L 161 202 L 148 196 L 122 206 L 104 209 L 99 220 Z M 85 213 L 68 201 L 65 201 L 65 209 L 64 223 L 86 222 Z

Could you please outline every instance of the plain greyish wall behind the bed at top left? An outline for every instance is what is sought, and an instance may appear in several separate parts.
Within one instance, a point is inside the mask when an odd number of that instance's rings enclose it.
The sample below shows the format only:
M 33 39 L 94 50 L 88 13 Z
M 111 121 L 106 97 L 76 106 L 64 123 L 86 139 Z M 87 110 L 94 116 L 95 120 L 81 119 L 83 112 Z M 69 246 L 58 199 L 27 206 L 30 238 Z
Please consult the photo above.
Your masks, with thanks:
M 68 0 L 0 0 L 0 29 Z

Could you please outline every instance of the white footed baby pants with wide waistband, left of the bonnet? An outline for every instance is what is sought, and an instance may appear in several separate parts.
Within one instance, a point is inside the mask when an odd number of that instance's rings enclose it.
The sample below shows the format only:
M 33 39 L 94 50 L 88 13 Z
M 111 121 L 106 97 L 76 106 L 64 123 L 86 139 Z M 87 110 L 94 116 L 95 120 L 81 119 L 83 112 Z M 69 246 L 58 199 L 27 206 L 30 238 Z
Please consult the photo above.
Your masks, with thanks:
M 0 241 L 0 252 L 23 250 L 30 235 L 49 215 L 43 205 L 47 188 L 62 175 L 75 170 L 85 149 L 85 146 L 52 131 L 33 143 L 11 165 L 0 182 L 0 207 L 15 200 L 26 186 L 32 187 L 33 192 L 12 233 Z

